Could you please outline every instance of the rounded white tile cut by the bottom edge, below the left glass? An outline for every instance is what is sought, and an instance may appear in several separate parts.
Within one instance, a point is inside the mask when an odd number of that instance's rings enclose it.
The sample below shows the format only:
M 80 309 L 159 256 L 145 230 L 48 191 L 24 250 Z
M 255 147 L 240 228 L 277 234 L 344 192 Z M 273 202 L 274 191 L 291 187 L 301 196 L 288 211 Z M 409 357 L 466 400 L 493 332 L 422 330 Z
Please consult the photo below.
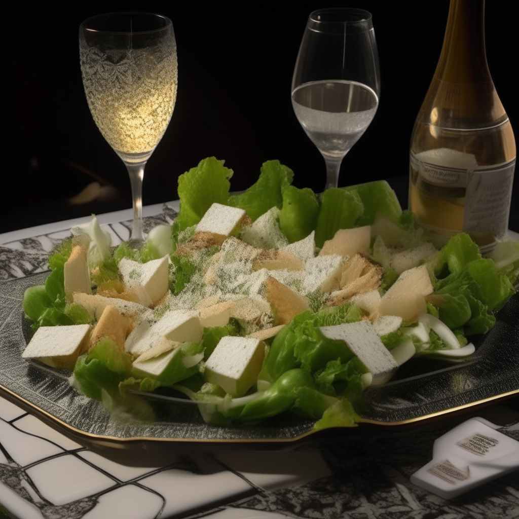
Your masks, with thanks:
M 95 507 L 82 519 L 154 519 L 162 508 L 163 500 L 138 486 L 125 485 L 103 494 Z

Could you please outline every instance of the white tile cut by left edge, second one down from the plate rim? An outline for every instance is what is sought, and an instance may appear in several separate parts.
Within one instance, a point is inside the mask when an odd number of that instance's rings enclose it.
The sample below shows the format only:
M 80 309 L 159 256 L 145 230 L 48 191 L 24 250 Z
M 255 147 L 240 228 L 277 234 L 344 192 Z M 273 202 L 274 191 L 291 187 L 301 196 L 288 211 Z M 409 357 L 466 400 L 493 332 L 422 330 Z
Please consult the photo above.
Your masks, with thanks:
M 0 439 L 11 458 L 22 467 L 63 452 L 63 449 L 47 440 L 21 432 L 2 420 L 0 420 Z

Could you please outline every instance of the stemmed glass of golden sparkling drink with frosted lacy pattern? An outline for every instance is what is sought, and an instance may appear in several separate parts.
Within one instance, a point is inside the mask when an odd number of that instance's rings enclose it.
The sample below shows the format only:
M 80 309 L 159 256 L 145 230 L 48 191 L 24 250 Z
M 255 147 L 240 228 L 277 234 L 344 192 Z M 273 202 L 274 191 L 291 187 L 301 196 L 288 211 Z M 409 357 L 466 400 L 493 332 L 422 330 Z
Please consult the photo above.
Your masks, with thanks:
M 130 247 L 144 242 L 144 167 L 168 127 L 176 100 L 173 24 L 151 13 L 109 13 L 79 26 L 79 58 L 90 113 L 125 163 L 133 197 Z

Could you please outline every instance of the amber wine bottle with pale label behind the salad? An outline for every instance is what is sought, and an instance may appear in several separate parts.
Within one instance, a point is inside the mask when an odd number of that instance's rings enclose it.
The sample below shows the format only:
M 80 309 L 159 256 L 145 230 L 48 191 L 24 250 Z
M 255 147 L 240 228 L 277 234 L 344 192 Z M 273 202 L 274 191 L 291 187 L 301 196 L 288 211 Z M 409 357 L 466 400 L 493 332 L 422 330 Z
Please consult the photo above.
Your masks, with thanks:
M 507 234 L 515 140 L 488 70 L 484 13 L 484 0 L 450 0 L 411 137 L 409 208 L 438 245 L 464 231 L 489 252 Z

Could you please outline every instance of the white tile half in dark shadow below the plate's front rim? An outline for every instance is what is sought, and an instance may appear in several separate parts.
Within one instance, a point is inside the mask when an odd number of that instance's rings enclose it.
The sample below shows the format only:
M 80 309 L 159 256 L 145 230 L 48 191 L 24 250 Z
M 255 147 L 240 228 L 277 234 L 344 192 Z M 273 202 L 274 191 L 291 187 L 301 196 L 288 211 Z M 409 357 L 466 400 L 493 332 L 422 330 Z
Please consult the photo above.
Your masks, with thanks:
M 332 475 L 316 449 L 273 453 L 220 452 L 215 453 L 215 457 L 265 490 L 301 486 Z

